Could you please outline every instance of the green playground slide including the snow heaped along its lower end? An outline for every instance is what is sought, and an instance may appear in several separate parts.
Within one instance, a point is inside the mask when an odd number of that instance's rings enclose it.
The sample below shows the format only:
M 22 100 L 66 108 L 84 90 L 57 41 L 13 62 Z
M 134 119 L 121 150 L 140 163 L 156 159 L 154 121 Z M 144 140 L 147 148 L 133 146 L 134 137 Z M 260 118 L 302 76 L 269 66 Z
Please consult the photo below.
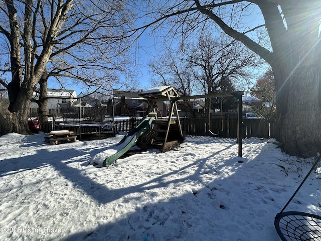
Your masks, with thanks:
M 111 165 L 136 143 L 137 139 L 149 129 L 149 126 L 153 120 L 154 117 L 144 117 L 139 125 L 136 128 L 130 130 L 117 145 L 113 146 L 110 149 L 107 149 L 103 153 L 96 155 L 91 163 L 101 165 L 101 162 L 103 160 L 103 167 Z

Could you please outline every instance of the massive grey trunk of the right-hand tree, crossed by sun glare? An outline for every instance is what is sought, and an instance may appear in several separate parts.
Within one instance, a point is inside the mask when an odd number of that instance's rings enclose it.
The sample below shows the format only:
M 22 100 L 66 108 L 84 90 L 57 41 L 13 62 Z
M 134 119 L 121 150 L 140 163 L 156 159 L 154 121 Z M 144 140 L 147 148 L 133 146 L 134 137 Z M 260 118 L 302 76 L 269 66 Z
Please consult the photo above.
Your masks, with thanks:
M 277 138 L 290 155 L 321 151 L 319 16 L 310 3 L 282 8 L 287 21 L 283 43 L 271 63 L 277 89 Z M 317 13 L 317 12 L 315 12 Z

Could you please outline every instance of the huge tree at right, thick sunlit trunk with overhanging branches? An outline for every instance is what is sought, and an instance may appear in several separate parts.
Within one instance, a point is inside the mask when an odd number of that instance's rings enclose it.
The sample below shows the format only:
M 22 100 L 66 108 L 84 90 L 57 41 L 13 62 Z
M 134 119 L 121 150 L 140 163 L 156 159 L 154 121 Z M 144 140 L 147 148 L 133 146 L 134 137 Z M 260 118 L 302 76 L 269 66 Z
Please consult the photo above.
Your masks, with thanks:
M 277 101 L 277 140 L 291 155 L 314 156 L 321 149 L 319 0 L 169 1 L 154 7 L 149 25 L 171 26 L 167 37 L 188 36 L 197 28 L 218 28 L 243 43 L 272 68 Z M 260 12 L 262 25 L 248 21 Z M 256 40 L 265 28 L 269 42 Z M 139 29 L 138 29 L 139 30 Z M 161 29 L 164 32 L 164 28 Z M 167 29 L 169 30 L 169 28 Z M 266 44 L 269 44 L 267 46 Z

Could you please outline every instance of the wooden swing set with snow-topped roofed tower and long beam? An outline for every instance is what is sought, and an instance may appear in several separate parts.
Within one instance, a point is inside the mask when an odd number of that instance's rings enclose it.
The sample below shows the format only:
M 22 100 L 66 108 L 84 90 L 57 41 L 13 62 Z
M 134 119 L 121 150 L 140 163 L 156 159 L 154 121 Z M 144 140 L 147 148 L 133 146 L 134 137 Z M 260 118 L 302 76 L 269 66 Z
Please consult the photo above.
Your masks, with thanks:
M 148 103 L 147 116 L 155 119 L 149 130 L 139 137 L 136 145 L 142 149 L 156 148 L 165 152 L 183 142 L 184 135 L 177 108 L 178 100 L 233 96 L 239 100 L 237 143 L 239 145 L 238 156 L 242 157 L 242 95 L 243 91 L 180 96 L 177 90 L 171 86 L 160 86 L 143 91 L 139 96 L 144 97 Z M 157 115 L 157 103 L 162 101 L 169 101 L 170 103 L 168 118 Z

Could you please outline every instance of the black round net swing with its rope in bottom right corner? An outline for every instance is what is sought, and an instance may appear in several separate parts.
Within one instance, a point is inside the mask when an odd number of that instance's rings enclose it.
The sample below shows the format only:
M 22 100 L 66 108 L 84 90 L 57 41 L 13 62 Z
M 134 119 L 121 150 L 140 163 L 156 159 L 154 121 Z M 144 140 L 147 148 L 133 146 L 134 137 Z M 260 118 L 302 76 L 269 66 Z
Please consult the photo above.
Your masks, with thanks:
M 320 216 L 297 211 L 283 212 L 301 188 L 307 177 L 311 174 L 320 158 L 321 155 L 316 159 L 310 171 L 307 173 L 299 187 L 295 190 L 292 197 L 274 218 L 275 229 L 282 241 L 321 241 Z

